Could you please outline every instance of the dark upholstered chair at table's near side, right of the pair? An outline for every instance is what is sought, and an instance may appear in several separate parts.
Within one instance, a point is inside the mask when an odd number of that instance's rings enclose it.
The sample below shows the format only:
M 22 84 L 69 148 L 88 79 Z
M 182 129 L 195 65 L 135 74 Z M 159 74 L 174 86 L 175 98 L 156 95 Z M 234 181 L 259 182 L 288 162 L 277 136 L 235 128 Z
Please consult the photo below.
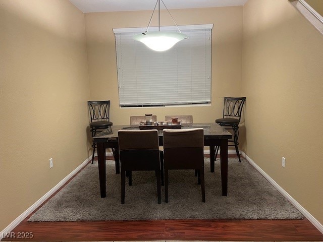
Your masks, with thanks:
M 203 129 L 164 129 L 165 201 L 168 202 L 168 171 L 171 169 L 198 170 L 202 201 L 204 188 L 204 136 Z

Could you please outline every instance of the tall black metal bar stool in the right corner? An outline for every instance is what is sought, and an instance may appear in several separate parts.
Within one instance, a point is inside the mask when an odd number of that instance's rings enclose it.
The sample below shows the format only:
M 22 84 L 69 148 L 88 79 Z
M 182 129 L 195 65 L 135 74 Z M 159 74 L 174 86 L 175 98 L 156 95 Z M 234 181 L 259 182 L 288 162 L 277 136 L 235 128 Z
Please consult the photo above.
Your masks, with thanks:
M 217 124 L 224 126 L 227 130 L 233 131 L 233 140 L 229 140 L 229 142 L 233 144 L 229 146 L 234 146 L 236 148 L 236 153 L 239 158 L 239 162 L 241 162 L 240 153 L 238 149 L 239 124 L 241 120 L 243 104 L 245 101 L 245 97 L 225 97 L 223 118 L 216 119 Z M 216 157 L 214 157 L 214 160 L 217 159 L 218 152 L 219 146 L 216 147 Z

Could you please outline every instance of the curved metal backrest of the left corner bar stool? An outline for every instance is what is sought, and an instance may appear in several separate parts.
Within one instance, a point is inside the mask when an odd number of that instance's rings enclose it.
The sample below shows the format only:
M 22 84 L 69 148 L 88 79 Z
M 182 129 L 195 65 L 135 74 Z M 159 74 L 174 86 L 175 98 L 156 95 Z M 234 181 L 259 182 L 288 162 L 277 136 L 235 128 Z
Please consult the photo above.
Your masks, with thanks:
M 110 121 L 110 100 L 88 101 L 90 123 L 97 121 Z

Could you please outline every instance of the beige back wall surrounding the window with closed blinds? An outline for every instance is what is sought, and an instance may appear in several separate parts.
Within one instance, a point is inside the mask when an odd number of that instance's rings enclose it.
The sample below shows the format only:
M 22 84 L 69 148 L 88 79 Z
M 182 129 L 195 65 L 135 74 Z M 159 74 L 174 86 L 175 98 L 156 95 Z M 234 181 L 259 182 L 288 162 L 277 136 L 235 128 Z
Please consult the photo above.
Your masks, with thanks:
M 111 100 L 111 120 L 129 124 L 129 116 L 153 113 L 193 114 L 194 122 L 214 122 L 222 116 L 223 97 L 241 94 L 243 7 L 171 10 L 178 25 L 214 24 L 212 30 L 212 105 L 202 107 L 120 108 L 113 28 L 146 27 L 152 11 L 85 14 L 91 98 Z M 156 16 L 154 18 L 156 20 Z M 151 26 L 156 26 L 152 23 Z M 173 25 L 161 13 L 161 25 Z

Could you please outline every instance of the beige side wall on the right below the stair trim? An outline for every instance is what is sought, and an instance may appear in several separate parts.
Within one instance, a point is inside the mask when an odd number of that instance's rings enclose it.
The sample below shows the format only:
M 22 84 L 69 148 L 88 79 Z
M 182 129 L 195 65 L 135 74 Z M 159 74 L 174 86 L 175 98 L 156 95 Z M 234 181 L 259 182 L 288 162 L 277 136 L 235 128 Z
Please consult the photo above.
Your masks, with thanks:
M 243 150 L 323 223 L 323 36 L 289 1 L 249 0 L 242 56 Z

